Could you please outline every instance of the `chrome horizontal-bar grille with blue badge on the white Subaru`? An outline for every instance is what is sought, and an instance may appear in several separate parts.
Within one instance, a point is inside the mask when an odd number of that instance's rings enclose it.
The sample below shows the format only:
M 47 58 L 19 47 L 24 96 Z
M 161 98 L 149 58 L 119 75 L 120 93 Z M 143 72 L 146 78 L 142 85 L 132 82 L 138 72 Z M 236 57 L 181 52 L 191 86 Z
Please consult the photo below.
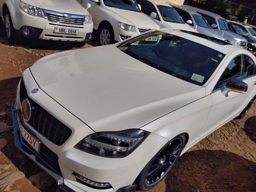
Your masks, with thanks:
M 71 24 L 71 25 L 84 25 L 84 16 L 83 15 L 72 15 L 71 18 L 64 17 L 65 13 L 60 12 L 53 12 L 44 10 L 45 15 L 47 17 L 48 21 L 55 22 L 55 23 L 65 23 L 65 24 Z

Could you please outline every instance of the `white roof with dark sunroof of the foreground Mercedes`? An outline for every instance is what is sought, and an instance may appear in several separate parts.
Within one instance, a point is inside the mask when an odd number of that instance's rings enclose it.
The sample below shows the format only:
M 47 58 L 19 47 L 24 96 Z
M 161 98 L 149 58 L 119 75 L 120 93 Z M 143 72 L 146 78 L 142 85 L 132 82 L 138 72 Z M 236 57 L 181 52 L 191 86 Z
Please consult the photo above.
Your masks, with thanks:
M 178 29 L 158 29 L 158 31 L 163 31 L 166 33 L 170 33 L 172 35 L 180 36 L 182 38 L 202 44 L 204 46 L 207 46 L 209 48 L 212 48 L 212 49 L 214 49 L 218 52 L 224 53 L 224 54 L 227 54 L 230 51 L 242 49 L 242 48 L 232 45 L 226 41 L 222 41 L 220 39 L 216 39 L 216 38 L 206 36 L 203 34 L 194 33 L 191 31 L 184 31 L 184 30 L 178 30 Z

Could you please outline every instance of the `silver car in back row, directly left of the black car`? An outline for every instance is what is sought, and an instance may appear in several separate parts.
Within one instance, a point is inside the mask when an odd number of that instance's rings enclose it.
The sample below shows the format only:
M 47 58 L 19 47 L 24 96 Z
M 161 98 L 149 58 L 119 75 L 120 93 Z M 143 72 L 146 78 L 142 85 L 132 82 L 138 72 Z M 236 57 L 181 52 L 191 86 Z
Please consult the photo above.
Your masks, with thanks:
M 202 16 L 204 16 L 204 18 L 211 25 L 211 27 L 219 35 L 222 35 L 223 37 L 225 37 L 229 43 L 233 45 L 237 45 L 243 49 L 247 49 L 247 40 L 244 37 L 237 35 L 232 31 L 229 31 L 227 21 L 220 15 L 209 12 L 209 11 L 205 11 L 202 9 L 198 9 L 196 7 L 191 7 L 188 5 L 184 5 L 184 7 L 186 7 L 187 9 L 196 11 L 200 13 Z

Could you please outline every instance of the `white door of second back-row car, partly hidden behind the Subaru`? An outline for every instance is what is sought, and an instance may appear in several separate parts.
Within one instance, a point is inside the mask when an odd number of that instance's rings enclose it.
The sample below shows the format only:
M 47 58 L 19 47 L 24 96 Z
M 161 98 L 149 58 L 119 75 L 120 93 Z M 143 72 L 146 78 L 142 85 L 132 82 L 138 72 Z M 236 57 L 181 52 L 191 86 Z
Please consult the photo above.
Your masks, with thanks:
M 85 9 L 87 9 L 87 4 L 91 4 L 91 8 L 88 9 L 88 12 L 92 15 L 93 28 L 97 29 L 100 21 L 102 20 L 102 14 L 100 13 L 100 0 L 95 3 L 90 0 L 76 0 L 81 4 Z

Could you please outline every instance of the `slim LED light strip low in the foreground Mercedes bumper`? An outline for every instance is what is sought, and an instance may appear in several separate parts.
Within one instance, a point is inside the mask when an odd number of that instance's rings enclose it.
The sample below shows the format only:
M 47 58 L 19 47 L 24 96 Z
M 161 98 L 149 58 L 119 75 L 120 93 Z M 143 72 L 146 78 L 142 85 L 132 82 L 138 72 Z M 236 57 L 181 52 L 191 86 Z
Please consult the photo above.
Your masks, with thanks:
M 109 189 L 112 188 L 112 186 L 109 183 L 99 183 L 99 182 L 95 182 L 89 179 L 86 179 L 85 177 L 77 174 L 76 172 L 72 173 L 73 175 L 75 175 L 76 180 L 88 187 L 91 188 L 95 188 L 95 189 Z

